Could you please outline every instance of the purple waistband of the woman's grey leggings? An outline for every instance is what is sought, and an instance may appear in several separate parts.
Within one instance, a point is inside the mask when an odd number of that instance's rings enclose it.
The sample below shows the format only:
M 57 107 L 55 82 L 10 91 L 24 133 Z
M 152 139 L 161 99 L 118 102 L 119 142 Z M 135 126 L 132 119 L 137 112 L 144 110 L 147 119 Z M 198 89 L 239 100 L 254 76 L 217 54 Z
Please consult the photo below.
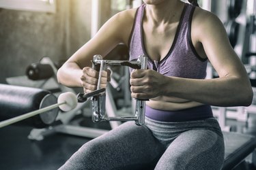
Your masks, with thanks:
M 153 109 L 152 107 L 146 105 L 145 116 L 162 122 L 184 122 L 190 120 L 203 120 L 206 118 L 213 118 L 212 107 L 210 107 L 210 105 L 200 105 L 197 107 L 181 109 L 177 111 Z

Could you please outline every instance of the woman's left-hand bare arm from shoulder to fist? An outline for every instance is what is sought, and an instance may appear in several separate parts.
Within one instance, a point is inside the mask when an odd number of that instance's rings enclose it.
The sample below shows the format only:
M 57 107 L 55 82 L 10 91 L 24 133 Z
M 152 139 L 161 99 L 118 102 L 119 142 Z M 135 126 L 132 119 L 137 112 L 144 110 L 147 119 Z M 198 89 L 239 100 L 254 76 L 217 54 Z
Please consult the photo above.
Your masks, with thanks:
M 59 83 L 65 86 L 83 86 L 94 90 L 97 73 L 90 68 L 92 58 L 96 54 L 106 56 L 119 43 L 128 44 L 133 24 L 132 14 L 134 14 L 134 10 L 126 10 L 109 19 L 98 33 L 77 50 L 58 70 L 57 80 Z M 102 83 L 106 84 L 106 72 L 102 77 L 104 77 Z

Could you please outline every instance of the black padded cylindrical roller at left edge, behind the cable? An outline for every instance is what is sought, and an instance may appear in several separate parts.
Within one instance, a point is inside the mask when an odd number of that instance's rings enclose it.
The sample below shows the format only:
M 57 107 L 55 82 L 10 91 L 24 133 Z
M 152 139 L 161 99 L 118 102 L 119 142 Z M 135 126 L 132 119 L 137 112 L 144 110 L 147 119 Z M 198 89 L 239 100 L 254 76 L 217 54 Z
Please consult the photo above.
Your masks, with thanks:
M 1 120 L 14 118 L 53 103 L 57 103 L 57 98 L 47 90 L 0 84 Z M 58 109 L 55 108 L 44 114 L 27 119 L 24 124 L 43 128 L 52 124 L 57 114 Z

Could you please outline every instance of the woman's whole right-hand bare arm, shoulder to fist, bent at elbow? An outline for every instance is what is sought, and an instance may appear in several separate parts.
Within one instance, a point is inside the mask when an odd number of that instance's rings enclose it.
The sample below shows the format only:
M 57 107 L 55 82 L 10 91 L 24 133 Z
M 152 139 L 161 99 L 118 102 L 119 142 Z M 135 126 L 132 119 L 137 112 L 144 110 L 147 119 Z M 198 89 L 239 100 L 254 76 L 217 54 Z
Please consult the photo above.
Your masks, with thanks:
M 132 97 L 151 99 L 164 95 L 217 106 L 251 105 L 253 92 L 248 75 L 229 44 L 221 20 L 210 12 L 197 12 L 192 30 L 193 40 L 203 44 L 219 78 L 194 80 L 137 70 L 131 74 Z

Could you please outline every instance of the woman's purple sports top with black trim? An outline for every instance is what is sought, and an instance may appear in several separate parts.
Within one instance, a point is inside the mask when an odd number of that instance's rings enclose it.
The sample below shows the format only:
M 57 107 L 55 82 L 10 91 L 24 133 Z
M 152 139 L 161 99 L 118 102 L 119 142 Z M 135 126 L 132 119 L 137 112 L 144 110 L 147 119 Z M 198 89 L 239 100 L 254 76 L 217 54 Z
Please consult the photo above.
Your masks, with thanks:
M 180 23 L 173 40 L 173 44 L 161 61 L 152 61 L 147 54 L 143 41 L 142 19 L 145 10 L 145 4 L 138 10 L 130 36 L 130 60 L 136 60 L 139 55 L 144 54 L 149 58 L 148 69 L 154 69 L 162 75 L 174 76 L 180 78 L 204 79 L 206 76 L 206 67 L 208 60 L 203 60 L 197 54 L 191 40 L 191 20 L 195 6 L 186 3 Z

